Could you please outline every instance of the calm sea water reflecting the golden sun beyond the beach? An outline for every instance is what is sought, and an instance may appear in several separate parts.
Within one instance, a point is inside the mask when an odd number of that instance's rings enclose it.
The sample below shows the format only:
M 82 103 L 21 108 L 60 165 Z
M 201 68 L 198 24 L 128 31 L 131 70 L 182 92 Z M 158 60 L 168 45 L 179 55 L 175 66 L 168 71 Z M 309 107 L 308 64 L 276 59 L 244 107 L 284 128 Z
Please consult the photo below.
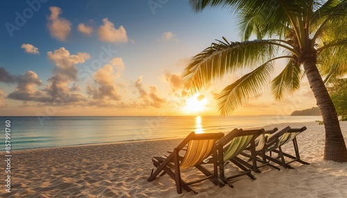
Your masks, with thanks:
M 10 120 L 11 150 L 184 137 L 189 132 L 229 132 L 233 128 L 321 120 L 321 116 L 153 116 L 0 117 L 5 149 Z

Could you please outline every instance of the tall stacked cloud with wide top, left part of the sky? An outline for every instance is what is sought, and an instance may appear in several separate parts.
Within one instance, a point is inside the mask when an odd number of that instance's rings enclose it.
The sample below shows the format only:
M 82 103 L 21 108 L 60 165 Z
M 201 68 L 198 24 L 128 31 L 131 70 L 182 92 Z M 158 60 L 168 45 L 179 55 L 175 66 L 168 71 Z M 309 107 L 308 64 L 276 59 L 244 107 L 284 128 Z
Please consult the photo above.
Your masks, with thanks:
M 67 103 L 85 100 L 81 94 L 73 93 L 74 88 L 69 87 L 69 83 L 77 80 L 76 64 L 85 62 L 90 58 L 90 55 L 88 53 L 70 55 L 69 51 L 61 47 L 53 53 L 49 51 L 47 56 L 56 64 L 53 74 L 48 80 L 50 84 L 45 89 L 49 94 L 50 101 Z

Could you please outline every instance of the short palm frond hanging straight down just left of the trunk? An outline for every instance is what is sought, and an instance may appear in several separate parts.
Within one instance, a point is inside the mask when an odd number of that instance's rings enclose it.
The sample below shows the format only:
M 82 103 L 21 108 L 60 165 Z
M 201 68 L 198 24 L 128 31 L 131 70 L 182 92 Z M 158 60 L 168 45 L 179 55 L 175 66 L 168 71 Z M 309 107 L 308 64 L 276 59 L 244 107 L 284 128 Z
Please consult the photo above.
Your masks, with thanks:
M 285 93 L 291 93 L 300 88 L 300 65 L 294 58 L 288 60 L 285 69 L 271 81 L 271 93 L 276 100 L 282 100 Z

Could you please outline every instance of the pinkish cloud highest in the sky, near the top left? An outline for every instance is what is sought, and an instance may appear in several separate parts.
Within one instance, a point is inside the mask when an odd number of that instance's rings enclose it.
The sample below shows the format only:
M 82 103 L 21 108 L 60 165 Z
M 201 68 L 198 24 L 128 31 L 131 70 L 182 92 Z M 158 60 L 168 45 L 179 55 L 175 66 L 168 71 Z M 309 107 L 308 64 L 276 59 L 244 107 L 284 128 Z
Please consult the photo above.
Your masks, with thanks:
M 59 17 L 61 9 L 55 6 L 49 7 L 51 15 L 48 17 L 48 28 L 51 36 L 65 42 L 71 32 L 71 22 Z

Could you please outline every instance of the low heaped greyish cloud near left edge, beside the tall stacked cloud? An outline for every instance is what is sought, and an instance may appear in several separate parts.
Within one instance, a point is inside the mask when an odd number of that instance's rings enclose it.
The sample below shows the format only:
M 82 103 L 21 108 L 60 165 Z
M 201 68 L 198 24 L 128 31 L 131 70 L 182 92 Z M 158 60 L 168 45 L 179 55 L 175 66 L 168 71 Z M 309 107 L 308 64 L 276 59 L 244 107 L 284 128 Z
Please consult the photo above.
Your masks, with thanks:
M 37 86 L 42 85 L 42 81 L 35 72 L 26 71 L 24 75 L 20 75 L 17 78 L 17 83 L 18 86 L 16 87 L 15 91 L 8 94 L 8 98 L 24 101 L 40 101 L 42 98 L 45 98 L 44 93 L 37 89 Z

